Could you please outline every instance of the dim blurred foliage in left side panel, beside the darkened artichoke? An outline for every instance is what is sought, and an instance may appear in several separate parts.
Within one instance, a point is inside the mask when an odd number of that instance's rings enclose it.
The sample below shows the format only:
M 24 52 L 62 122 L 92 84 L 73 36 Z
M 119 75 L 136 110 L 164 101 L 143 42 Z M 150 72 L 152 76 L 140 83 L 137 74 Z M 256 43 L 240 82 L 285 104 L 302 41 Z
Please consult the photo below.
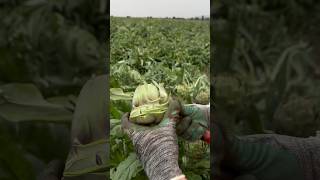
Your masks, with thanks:
M 107 70 L 107 5 L 0 1 L 0 179 L 63 166 L 78 93 Z

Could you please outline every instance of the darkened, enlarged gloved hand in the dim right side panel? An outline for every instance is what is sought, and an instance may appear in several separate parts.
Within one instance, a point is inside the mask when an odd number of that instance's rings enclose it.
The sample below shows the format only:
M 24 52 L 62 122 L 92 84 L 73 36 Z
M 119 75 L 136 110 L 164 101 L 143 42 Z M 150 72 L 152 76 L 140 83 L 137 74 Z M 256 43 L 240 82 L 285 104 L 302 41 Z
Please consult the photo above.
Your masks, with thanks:
M 215 179 L 304 180 L 297 157 L 287 148 L 272 146 L 270 138 L 249 141 L 228 135 L 214 122 Z

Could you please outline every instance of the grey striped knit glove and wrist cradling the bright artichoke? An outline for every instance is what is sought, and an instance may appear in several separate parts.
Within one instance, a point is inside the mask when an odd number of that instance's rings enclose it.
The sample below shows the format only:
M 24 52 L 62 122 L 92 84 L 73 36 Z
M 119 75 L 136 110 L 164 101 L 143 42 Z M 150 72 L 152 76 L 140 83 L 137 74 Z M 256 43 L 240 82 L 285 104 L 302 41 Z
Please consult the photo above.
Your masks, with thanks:
M 131 123 L 129 113 L 122 117 L 122 129 L 132 140 L 137 157 L 151 180 L 185 179 L 178 164 L 175 129 L 180 111 L 180 103 L 172 100 L 163 120 L 153 127 Z

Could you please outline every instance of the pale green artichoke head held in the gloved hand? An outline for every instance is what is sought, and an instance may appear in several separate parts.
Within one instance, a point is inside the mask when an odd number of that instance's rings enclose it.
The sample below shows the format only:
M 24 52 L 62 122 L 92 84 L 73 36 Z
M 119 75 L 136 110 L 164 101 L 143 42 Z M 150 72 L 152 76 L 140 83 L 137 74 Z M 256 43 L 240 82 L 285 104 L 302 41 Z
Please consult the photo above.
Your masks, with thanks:
M 130 121 L 137 124 L 159 123 L 169 105 L 169 96 L 162 84 L 143 84 L 136 88 L 132 99 Z

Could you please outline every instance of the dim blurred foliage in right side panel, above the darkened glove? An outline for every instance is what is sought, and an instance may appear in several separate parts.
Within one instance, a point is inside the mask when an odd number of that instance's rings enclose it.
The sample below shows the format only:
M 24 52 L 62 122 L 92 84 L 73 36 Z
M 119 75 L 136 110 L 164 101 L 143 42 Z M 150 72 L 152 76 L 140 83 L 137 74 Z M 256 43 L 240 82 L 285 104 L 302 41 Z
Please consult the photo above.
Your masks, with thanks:
M 320 3 L 212 1 L 216 120 L 236 134 L 320 130 Z

